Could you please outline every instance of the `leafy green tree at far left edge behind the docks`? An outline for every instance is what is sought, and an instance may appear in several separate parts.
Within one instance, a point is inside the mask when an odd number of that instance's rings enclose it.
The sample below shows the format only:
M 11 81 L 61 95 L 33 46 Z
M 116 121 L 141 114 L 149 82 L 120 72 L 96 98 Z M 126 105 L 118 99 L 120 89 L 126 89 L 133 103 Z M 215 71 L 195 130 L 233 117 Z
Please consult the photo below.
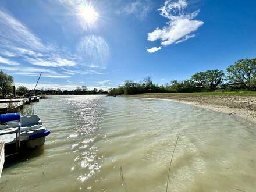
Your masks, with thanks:
M 12 85 L 13 85 L 13 77 L 1 71 L 0 72 L 0 91 L 2 93 L 3 98 L 5 98 L 6 95 L 12 90 Z

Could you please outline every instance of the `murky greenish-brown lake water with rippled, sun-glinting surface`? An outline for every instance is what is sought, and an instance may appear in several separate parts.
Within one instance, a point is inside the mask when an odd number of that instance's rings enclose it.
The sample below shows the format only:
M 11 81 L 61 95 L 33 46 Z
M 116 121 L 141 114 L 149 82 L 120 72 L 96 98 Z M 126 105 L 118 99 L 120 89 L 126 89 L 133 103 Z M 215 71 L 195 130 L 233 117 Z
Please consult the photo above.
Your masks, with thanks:
M 168 191 L 256 189 L 256 127 L 236 116 L 105 95 L 53 96 L 33 107 L 51 134 L 6 162 L 0 191 L 166 191 L 179 133 Z

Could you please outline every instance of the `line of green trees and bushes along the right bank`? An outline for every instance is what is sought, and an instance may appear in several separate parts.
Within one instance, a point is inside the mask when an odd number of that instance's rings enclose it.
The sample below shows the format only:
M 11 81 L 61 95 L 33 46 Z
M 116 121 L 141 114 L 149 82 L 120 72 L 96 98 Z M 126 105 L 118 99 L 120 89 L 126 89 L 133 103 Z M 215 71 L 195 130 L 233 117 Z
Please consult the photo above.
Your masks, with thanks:
M 112 88 L 108 95 L 141 93 L 177 93 L 195 91 L 223 90 L 256 90 L 256 58 L 240 59 L 234 65 L 223 70 L 207 70 L 193 74 L 187 80 L 173 80 L 170 83 L 158 86 L 152 82 L 151 77 L 144 78 L 140 83 L 126 80 L 123 86 Z

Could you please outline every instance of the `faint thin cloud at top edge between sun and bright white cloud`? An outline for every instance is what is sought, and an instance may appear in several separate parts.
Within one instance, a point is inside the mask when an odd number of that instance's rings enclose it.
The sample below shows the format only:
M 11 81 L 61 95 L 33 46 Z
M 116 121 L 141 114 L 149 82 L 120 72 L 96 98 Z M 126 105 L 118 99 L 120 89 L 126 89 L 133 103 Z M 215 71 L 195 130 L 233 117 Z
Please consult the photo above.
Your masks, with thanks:
M 138 19 L 143 20 L 147 17 L 148 13 L 151 10 L 151 1 L 150 0 L 136 0 L 129 2 L 125 7 L 118 10 L 118 14 L 134 15 Z

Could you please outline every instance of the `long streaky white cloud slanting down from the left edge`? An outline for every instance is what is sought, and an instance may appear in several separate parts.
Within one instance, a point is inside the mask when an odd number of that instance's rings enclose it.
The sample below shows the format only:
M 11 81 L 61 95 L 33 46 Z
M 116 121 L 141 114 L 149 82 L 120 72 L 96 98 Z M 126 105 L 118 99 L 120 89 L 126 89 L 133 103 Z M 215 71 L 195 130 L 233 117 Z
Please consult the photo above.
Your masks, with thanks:
M 51 44 L 43 43 L 24 24 L 0 10 L 0 53 L 23 58 L 31 65 L 46 67 L 75 66 L 74 56 Z

